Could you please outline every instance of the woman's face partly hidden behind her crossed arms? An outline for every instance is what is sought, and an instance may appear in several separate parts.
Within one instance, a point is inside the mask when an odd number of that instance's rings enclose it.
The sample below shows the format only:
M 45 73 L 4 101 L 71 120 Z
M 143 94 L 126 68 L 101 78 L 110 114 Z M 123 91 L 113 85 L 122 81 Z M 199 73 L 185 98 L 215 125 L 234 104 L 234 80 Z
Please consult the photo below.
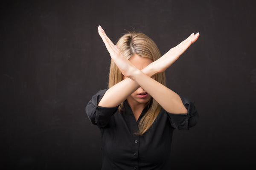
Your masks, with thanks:
M 139 70 L 142 70 L 146 66 L 148 66 L 151 62 L 153 62 L 152 59 L 147 58 L 147 57 L 140 57 L 137 54 L 134 54 L 133 57 L 129 59 L 129 61 Z M 126 79 L 123 75 L 122 79 Z M 131 96 L 127 98 L 128 103 L 138 105 L 138 104 L 146 104 L 149 100 L 151 99 L 151 96 L 142 88 L 138 88 L 136 91 L 134 91 Z

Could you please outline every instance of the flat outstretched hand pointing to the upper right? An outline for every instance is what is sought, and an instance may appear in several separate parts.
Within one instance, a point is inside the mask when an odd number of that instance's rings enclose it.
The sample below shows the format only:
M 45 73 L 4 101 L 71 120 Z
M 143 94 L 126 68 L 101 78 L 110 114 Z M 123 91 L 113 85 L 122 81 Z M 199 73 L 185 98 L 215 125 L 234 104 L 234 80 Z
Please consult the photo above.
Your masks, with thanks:
M 189 46 L 194 43 L 199 37 L 199 33 L 191 34 L 186 40 L 180 42 L 174 48 L 171 48 L 166 54 L 152 62 L 149 66 L 153 70 L 154 74 L 161 73 L 174 63 Z

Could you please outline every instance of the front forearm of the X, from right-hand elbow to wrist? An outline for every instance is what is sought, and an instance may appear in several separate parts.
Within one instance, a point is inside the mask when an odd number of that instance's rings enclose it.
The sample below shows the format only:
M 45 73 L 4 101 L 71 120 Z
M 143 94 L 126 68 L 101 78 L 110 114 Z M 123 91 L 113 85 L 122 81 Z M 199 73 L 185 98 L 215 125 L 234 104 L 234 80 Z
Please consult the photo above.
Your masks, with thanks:
M 134 71 L 130 79 L 137 82 L 169 113 L 187 113 L 180 96 L 166 86 L 148 77 L 140 70 Z

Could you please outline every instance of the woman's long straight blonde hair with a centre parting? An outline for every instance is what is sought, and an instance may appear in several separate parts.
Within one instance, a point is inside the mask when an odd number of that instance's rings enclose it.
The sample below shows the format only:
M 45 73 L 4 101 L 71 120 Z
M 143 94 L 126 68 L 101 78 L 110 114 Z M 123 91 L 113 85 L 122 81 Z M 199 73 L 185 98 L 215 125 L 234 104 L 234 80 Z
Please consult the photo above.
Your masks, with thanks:
M 150 58 L 153 61 L 161 57 L 160 51 L 154 41 L 145 34 L 135 31 L 128 32 L 120 37 L 116 46 L 127 59 L 131 58 L 134 54 L 137 54 L 140 57 Z M 164 72 L 156 74 L 155 80 L 165 85 Z M 108 87 L 111 88 L 120 81 L 122 81 L 122 72 L 111 59 Z M 139 131 L 135 133 L 137 135 L 142 136 L 151 127 L 161 110 L 161 106 L 153 98 L 148 102 L 148 107 L 148 111 L 139 122 Z M 121 112 L 122 110 L 123 103 L 119 106 L 119 111 Z

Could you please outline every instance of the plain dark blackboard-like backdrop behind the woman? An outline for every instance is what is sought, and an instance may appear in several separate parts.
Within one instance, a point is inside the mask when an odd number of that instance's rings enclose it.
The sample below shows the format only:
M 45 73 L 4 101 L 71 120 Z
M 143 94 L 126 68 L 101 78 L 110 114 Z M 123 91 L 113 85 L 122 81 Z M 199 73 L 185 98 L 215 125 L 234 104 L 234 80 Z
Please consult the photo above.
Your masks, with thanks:
M 199 122 L 175 130 L 174 169 L 255 165 L 255 1 L 13 1 L 0 6 L 1 167 L 100 169 L 99 129 L 84 108 L 106 88 L 110 56 L 97 27 L 151 37 L 165 54 L 200 32 L 166 70 Z

